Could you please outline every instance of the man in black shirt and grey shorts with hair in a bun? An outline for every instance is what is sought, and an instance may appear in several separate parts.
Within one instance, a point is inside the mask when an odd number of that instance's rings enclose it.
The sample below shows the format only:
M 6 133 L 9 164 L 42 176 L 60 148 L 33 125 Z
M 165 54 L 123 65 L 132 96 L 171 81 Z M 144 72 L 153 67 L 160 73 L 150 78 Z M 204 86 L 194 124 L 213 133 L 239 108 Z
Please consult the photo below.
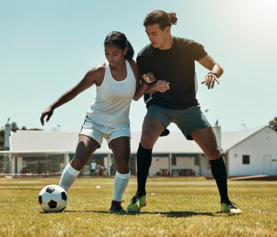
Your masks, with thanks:
M 213 88 L 215 82 L 219 84 L 223 69 L 201 44 L 171 36 L 171 25 L 176 23 L 175 13 L 161 10 L 150 12 L 143 22 L 151 43 L 139 52 L 137 64 L 140 74 L 151 71 L 158 81 L 150 85 L 144 95 L 147 114 L 137 153 L 138 190 L 127 209 L 139 212 L 146 205 L 145 184 L 151 165 L 152 148 L 164 129 L 174 122 L 186 139 L 194 140 L 210 160 L 221 197 L 222 211 L 240 213 L 241 210 L 228 197 L 226 167 L 212 126 L 195 98 L 197 82 L 194 62 L 197 61 L 210 70 L 201 81 L 208 89 Z M 151 79 L 145 81 L 146 84 L 151 82 Z

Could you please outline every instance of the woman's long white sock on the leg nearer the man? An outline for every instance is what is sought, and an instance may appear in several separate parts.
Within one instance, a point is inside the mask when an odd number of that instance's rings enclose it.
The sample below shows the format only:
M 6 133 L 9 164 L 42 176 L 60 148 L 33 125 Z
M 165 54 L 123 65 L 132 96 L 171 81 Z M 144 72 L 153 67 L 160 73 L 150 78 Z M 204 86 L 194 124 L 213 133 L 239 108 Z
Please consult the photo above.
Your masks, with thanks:
M 114 192 L 113 200 L 121 201 L 124 192 L 128 186 L 130 180 L 130 172 L 128 174 L 120 174 L 116 171 L 114 176 Z

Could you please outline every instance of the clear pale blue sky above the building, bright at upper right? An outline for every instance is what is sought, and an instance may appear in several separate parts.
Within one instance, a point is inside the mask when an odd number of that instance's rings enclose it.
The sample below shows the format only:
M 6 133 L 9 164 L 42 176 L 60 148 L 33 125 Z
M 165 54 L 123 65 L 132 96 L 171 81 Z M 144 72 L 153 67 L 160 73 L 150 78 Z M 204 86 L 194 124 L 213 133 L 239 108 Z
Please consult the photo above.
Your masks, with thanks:
M 0 127 L 11 118 L 20 128 L 80 130 L 95 86 L 56 109 L 45 127 L 41 113 L 105 60 L 110 31 L 125 33 L 137 54 L 148 43 L 143 18 L 154 9 L 176 12 L 172 35 L 202 43 L 224 68 L 213 90 L 198 84 L 212 124 L 219 119 L 223 131 L 234 131 L 277 116 L 275 0 L 0 0 Z M 196 73 L 200 81 L 207 70 L 198 64 Z M 145 112 L 142 99 L 132 102 L 132 131 L 141 130 Z

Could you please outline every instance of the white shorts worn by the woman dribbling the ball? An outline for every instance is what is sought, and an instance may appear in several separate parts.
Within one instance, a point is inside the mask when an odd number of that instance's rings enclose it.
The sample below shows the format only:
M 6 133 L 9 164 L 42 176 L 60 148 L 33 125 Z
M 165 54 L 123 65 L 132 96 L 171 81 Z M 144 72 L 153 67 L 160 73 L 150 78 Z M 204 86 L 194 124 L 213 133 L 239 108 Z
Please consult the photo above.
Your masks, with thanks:
M 106 127 L 101 124 L 95 123 L 91 118 L 86 116 L 84 125 L 81 128 L 79 136 L 80 135 L 86 135 L 93 138 L 96 142 L 99 143 L 98 148 L 100 148 L 103 138 L 105 138 L 109 144 L 111 140 L 118 137 L 131 138 L 131 131 L 128 124 L 119 127 Z

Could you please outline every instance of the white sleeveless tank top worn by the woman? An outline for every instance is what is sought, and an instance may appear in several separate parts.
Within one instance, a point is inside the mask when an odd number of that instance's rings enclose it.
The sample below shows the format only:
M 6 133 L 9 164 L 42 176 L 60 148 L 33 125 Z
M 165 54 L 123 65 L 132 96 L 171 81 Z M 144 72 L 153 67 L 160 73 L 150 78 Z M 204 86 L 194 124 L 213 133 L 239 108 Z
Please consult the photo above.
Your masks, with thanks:
M 125 63 L 127 77 L 117 81 L 113 79 L 106 61 L 103 82 L 96 86 L 96 97 L 87 111 L 87 116 L 97 124 L 113 128 L 130 124 L 129 112 L 136 92 L 136 78 L 128 60 Z

